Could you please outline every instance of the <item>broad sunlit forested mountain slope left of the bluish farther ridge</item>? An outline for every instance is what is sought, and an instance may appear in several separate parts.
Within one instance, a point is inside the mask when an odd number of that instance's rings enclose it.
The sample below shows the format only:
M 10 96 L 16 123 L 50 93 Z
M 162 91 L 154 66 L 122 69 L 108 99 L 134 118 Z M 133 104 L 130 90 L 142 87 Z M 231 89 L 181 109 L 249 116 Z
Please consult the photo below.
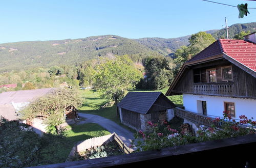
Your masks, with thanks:
M 26 41 L 0 44 L 0 72 L 53 65 L 78 65 L 105 55 L 151 52 L 152 49 L 127 38 L 106 35 L 83 39 Z

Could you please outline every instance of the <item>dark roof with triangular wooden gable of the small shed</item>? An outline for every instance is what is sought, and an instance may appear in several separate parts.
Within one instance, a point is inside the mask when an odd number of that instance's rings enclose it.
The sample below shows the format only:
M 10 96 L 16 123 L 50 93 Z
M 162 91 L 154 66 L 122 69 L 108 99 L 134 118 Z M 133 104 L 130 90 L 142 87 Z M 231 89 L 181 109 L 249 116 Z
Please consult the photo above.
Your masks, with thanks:
M 129 92 L 117 106 L 136 113 L 146 114 L 173 108 L 176 105 L 162 92 Z

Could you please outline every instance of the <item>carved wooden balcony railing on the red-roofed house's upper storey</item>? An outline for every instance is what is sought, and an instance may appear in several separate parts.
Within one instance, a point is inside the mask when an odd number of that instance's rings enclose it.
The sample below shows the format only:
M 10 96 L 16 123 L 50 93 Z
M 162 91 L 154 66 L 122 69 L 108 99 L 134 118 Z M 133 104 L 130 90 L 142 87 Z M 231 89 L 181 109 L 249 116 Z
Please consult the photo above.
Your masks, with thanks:
M 194 94 L 232 96 L 233 82 L 193 83 Z

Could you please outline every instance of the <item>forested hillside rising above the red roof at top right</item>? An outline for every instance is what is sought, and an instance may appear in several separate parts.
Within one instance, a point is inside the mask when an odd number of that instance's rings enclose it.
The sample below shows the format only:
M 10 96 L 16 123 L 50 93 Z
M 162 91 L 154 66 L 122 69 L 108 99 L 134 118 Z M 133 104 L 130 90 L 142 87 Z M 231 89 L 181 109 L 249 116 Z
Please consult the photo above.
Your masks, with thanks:
M 244 24 L 238 23 L 238 24 L 233 24 L 233 25 L 229 26 L 229 29 L 228 29 L 229 39 L 234 38 L 234 35 L 242 32 L 242 31 L 244 31 L 244 32 L 250 31 L 251 33 L 255 32 L 256 31 L 256 22 L 244 23 Z M 215 33 L 212 33 L 211 35 L 213 37 L 215 37 L 216 39 L 218 39 L 218 38 L 225 39 L 225 38 L 227 38 L 226 28 L 221 29 Z

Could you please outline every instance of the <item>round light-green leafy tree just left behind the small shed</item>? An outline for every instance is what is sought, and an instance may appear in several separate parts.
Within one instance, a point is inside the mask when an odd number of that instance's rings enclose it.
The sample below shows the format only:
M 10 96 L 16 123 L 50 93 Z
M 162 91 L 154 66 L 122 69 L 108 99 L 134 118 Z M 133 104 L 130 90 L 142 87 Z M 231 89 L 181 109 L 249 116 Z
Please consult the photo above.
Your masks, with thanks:
M 95 74 L 95 87 L 109 100 L 122 98 L 125 90 L 134 89 L 142 74 L 126 56 L 101 60 Z

